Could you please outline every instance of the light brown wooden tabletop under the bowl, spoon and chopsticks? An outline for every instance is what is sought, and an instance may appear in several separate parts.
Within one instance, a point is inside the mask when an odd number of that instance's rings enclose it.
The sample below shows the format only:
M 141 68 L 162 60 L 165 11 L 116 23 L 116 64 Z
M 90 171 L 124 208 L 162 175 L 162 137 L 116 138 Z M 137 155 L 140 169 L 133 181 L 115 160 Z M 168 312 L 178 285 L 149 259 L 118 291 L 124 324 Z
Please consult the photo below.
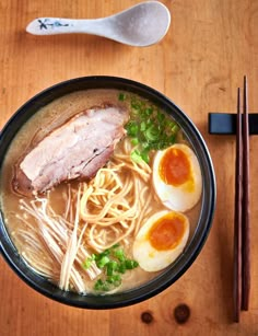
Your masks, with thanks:
M 241 324 L 232 322 L 233 136 L 208 134 L 209 112 L 234 112 L 243 76 L 249 107 L 258 112 L 258 2 L 162 1 L 172 25 L 157 45 L 128 47 L 101 37 L 37 37 L 25 32 L 37 16 L 105 16 L 137 0 L 0 1 L 0 128 L 27 99 L 70 78 L 109 74 L 143 82 L 180 106 L 204 137 L 214 162 L 218 205 L 208 241 L 190 269 L 169 289 L 113 311 L 70 308 L 38 294 L 0 258 L 0 335 L 258 335 L 258 139 L 250 138 L 251 292 Z M 187 304 L 178 324 L 174 310 Z M 151 323 L 142 322 L 149 312 Z

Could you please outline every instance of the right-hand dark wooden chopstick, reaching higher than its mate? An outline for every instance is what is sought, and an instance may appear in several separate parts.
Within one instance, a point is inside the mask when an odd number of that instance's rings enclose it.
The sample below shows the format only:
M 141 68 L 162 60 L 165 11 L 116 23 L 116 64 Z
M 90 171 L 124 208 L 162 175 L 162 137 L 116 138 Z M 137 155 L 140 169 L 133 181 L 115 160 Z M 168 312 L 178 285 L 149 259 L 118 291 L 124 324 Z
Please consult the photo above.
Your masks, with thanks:
M 249 119 L 247 78 L 244 78 L 243 104 L 243 230 L 242 230 L 242 310 L 247 311 L 250 291 L 250 228 L 249 228 Z

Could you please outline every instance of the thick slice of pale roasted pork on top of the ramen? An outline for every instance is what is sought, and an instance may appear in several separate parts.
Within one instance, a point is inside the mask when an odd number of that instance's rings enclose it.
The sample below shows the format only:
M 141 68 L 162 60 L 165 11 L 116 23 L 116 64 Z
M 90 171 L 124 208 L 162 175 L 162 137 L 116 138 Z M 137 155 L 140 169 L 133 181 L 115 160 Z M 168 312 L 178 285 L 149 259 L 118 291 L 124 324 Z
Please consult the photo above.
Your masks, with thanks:
M 63 181 L 92 178 L 124 137 L 128 118 L 128 111 L 116 106 L 94 107 L 74 116 L 23 158 L 14 189 L 40 194 Z

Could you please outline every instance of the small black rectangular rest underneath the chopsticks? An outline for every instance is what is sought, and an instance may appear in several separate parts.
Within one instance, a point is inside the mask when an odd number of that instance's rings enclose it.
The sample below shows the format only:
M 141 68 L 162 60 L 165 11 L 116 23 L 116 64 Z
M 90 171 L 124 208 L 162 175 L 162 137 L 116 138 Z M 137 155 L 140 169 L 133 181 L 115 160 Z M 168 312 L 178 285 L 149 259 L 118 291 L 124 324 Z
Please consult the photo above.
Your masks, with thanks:
M 236 114 L 210 112 L 208 116 L 210 135 L 236 135 Z M 258 113 L 249 114 L 249 135 L 258 135 Z

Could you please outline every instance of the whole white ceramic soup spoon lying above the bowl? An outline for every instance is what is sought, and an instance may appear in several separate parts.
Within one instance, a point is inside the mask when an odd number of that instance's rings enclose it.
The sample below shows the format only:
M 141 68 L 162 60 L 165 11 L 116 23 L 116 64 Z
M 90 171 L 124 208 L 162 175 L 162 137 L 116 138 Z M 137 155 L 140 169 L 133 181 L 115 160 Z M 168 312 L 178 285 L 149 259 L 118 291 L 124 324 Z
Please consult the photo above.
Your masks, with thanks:
M 33 35 L 85 33 L 144 47 L 160 42 L 169 24 L 168 9 L 161 2 L 146 1 L 101 19 L 38 18 L 27 25 L 26 32 Z

